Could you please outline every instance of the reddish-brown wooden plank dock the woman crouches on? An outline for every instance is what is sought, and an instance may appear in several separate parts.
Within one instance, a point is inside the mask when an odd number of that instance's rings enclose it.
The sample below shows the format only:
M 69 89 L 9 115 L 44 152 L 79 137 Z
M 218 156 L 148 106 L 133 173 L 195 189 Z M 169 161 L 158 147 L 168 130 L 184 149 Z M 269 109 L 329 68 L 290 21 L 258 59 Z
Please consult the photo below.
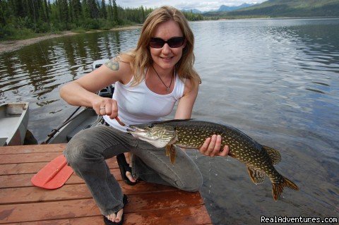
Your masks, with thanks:
M 62 154 L 65 144 L 0 147 L 0 224 L 104 224 L 85 183 L 73 174 L 57 190 L 32 186 L 30 179 Z M 121 181 L 117 160 L 108 159 L 129 204 L 124 224 L 212 224 L 200 193 Z

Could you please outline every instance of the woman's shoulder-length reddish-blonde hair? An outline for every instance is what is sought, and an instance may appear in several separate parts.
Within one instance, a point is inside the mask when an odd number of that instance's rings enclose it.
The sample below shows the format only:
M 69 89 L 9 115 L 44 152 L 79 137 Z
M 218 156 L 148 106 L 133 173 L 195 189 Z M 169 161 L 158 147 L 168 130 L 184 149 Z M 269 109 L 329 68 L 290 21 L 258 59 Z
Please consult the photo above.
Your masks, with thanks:
M 125 61 L 131 66 L 134 78 L 132 85 L 141 83 L 145 77 L 145 68 L 152 66 L 153 59 L 150 55 L 149 42 L 156 26 L 169 20 L 174 20 L 178 23 L 186 39 L 186 46 L 182 51 L 182 58 L 176 64 L 176 71 L 179 78 L 181 80 L 185 78 L 191 80 L 192 90 L 201 83 L 201 78 L 193 67 L 195 60 L 193 53 L 194 35 L 191 28 L 189 28 L 189 23 L 184 14 L 177 10 L 177 8 L 162 6 L 148 14 L 145 23 L 143 23 L 136 49 L 118 56 L 118 60 Z

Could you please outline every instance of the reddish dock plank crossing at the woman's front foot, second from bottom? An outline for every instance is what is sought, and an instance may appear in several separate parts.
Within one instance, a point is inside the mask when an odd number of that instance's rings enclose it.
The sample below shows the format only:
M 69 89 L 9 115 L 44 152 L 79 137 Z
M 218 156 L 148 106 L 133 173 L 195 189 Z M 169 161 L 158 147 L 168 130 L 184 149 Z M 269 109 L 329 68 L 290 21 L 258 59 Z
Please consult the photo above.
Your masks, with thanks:
M 189 195 L 189 197 L 188 197 Z M 188 197 L 188 199 L 187 199 Z M 173 190 L 172 193 L 143 193 L 129 195 L 129 203 L 124 212 L 144 212 L 153 209 L 170 209 L 203 205 L 198 193 Z M 39 212 L 39 213 L 32 213 Z M 92 198 L 57 202 L 38 202 L 28 204 L 0 205 L 0 223 L 20 221 L 39 221 L 49 219 L 69 219 L 100 215 Z M 161 215 L 160 215 L 161 216 Z

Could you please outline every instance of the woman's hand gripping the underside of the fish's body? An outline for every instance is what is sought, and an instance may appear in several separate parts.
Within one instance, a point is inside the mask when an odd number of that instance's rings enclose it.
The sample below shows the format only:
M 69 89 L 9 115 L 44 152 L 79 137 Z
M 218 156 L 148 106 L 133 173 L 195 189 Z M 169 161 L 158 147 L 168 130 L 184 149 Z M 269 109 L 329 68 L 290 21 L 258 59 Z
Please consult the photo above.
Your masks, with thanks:
M 199 148 L 199 152 L 205 154 L 206 156 L 215 157 L 225 157 L 228 154 L 229 148 L 228 145 L 225 145 L 221 150 L 221 136 L 212 135 L 211 138 L 207 138 L 203 143 L 203 146 Z

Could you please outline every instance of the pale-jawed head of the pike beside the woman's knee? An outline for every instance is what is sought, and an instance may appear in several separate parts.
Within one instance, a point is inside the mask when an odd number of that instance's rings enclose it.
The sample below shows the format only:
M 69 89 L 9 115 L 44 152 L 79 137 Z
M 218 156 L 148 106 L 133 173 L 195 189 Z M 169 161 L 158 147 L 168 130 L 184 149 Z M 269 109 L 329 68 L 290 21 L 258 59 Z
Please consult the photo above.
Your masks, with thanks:
M 156 122 L 130 125 L 127 132 L 155 147 L 165 147 L 176 136 L 174 127 Z

